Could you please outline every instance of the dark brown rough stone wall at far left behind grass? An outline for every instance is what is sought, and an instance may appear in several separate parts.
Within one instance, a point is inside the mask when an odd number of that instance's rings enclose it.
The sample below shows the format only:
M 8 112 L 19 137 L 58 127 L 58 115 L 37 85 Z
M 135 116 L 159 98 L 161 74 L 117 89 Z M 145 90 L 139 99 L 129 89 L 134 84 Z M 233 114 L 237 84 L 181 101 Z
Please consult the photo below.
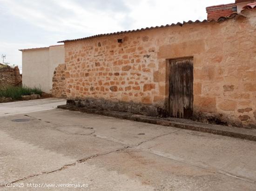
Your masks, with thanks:
M 0 68 L 0 88 L 18 86 L 21 83 L 20 69 L 18 66 L 14 68 L 10 66 Z

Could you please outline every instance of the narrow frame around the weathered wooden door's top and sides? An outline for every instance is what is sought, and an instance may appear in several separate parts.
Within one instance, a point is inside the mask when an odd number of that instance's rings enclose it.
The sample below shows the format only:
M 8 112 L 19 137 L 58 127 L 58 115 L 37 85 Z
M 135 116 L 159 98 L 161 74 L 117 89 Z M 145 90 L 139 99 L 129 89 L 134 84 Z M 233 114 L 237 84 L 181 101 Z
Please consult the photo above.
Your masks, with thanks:
M 195 74 L 194 70 L 194 56 L 183 56 L 183 57 L 177 57 L 177 58 L 171 58 L 171 59 L 166 59 L 166 77 L 167 77 L 167 86 L 166 86 L 166 91 L 168 92 L 168 97 L 166 101 L 166 110 L 168 112 L 168 116 L 170 117 L 170 91 L 169 91 L 169 86 L 170 86 L 170 60 L 175 60 L 175 59 L 193 59 L 193 76 Z M 193 77 L 193 105 L 192 107 L 194 108 L 194 77 Z M 193 109 L 193 115 L 194 115 L 194 109 Z

